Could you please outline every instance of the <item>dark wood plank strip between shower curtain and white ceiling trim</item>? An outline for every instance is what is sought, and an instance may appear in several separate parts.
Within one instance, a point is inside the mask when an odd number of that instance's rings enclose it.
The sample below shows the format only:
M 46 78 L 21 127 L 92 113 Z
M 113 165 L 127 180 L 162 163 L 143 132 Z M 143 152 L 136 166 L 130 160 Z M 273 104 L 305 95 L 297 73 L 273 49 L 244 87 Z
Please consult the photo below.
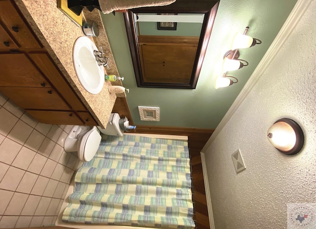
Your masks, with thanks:
M 210 136 L 211 133 L 209 135 L 203 133 L 189 136 L 189 150 L 192 164 L 192 180 L 197 229 L 210 228 L 205 197 L 202 163 L 200 157 L 200 151 L 202 150 L 203 146 Z

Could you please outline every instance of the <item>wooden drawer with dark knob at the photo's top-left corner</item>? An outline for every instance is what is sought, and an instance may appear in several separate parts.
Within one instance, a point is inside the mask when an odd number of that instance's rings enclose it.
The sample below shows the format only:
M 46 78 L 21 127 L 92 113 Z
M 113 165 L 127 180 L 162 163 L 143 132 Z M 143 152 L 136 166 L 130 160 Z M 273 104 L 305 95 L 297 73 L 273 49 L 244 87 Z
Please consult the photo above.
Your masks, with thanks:
M 21 18 L 17 9 L 11 1 L 0 1 L 0 20 L 7 27 L 8 31 L 12 34 L 18 43 L 19 47 L 25 48 L 41 48 L 37 39 L 33 36 L 32 32 Z

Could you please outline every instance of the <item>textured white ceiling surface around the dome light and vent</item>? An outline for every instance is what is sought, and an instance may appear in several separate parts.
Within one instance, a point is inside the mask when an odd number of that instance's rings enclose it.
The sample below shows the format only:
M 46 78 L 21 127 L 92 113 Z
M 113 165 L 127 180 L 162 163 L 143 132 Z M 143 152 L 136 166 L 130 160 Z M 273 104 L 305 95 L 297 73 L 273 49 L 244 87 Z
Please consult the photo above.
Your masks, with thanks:
M 316 1 L 271 65 L 204 151 L 216 229 L 286 228 L 287 203 L 316 203 Z M 303 150 L 279 153 L 267 130 L 279 118 L 297 121 Z M 246 170 L 236 174 L 240 148 Z

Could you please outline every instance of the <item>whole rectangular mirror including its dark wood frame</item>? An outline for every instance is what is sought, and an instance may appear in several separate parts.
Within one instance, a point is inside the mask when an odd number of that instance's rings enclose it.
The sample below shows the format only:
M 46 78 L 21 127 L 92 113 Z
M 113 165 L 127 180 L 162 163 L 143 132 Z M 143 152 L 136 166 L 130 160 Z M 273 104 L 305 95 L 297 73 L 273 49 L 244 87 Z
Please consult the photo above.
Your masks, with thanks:
M 218 2 L 176 2 L 124 13 L 138 87 L 196 88 Z

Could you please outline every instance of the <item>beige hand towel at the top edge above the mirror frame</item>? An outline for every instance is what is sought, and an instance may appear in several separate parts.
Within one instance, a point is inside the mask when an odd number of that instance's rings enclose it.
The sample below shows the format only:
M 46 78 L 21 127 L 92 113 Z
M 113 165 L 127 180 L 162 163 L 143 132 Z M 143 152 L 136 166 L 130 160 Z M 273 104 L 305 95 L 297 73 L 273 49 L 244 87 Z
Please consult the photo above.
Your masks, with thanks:
M 111 13 L 119 9 L 168 5 L 174 1 L 176 0 L 99 0 L 99 5 L 103 13 Z

